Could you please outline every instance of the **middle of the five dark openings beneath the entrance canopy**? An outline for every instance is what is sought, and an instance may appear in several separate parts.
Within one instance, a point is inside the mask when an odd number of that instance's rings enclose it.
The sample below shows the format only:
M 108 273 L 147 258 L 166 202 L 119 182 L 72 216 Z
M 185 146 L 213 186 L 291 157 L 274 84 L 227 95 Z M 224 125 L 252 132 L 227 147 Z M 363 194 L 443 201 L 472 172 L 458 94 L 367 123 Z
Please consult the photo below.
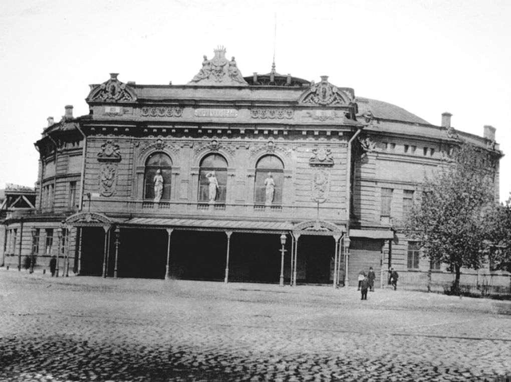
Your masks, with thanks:
M 174 230 L 170 246 L 170 275 L 183 279 L 223 281 L 226 249 L 227 235 L 224 232 Z

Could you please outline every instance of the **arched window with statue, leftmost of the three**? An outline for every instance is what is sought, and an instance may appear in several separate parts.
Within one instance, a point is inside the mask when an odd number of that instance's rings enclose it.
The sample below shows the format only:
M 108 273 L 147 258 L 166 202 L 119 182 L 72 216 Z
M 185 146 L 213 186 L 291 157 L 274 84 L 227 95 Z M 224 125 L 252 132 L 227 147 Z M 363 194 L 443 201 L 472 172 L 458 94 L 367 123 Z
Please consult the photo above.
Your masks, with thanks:
M 144 199 L 170 200 L 172 160 L 164 152 L 154 152 L 146 161 Z M 160 191 L 161 190 L 161 191 Z

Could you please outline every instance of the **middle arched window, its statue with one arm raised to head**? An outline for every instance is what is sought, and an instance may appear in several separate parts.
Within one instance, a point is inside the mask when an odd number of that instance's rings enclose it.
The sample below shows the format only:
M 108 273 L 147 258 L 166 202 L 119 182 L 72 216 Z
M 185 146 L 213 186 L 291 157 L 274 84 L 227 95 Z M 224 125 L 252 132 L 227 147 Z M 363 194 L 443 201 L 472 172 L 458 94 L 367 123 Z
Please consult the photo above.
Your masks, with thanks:
M 210 154 L 200 162 L 199 201 L 225 202 L 227 161 L 219 154 Z

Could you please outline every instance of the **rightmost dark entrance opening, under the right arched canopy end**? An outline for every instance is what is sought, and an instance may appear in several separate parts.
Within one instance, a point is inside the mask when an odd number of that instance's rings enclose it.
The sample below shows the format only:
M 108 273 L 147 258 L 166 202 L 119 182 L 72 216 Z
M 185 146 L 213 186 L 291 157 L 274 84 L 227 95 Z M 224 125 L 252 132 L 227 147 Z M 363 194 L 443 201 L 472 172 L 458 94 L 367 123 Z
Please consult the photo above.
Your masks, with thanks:
M 332 236 L 301 235 L 298 240 L 297 281 L 330 284 L 334 256 L 335 240 Z

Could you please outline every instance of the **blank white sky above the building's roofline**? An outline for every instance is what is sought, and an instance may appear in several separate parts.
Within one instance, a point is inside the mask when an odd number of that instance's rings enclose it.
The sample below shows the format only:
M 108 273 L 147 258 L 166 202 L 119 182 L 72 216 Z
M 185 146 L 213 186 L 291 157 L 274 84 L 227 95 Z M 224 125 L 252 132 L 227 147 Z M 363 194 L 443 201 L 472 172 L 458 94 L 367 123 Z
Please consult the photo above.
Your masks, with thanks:
M 243 75 L 276 70 L 352 87 L 455 129 L 497 129 L 511 191 L 511 2 L 507 0 L 17 0 L 0 10 L 0 188 L 34 187 L 33 143 L 89 84 L 188 83 L 223 45 Z

